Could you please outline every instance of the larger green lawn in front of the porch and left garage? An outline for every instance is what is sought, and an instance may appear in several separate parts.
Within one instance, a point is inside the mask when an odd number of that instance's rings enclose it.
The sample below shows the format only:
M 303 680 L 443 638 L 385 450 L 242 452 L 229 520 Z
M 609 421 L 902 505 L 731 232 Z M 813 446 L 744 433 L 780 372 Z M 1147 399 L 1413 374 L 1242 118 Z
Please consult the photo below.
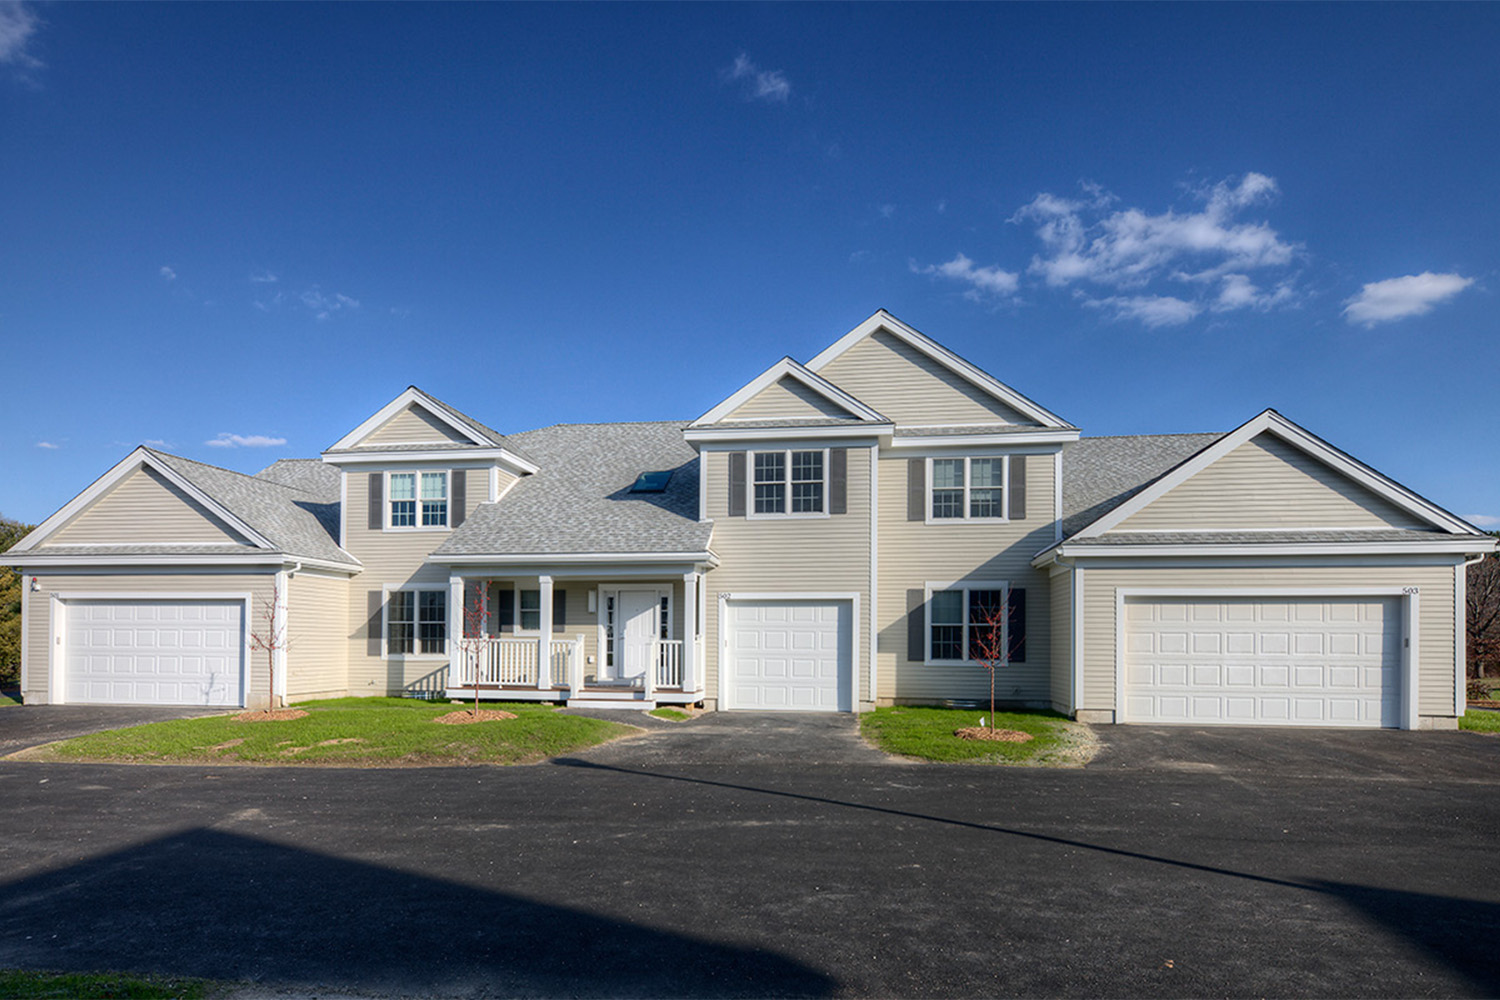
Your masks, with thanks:
M 494 703 L 516 718 L 442 726 L 440 715 L 464 711 L 447 702 L 414 699 L 332 699 L 298 705 L 306 718 L 242 723 L 232 715 L 153 723 L 80 736 L 34 751 L 46 760 L 128 760 L 148 763 L 260 765 L 471 765 L 530 763 L 602 744 L 632 727 L 550 705 Z

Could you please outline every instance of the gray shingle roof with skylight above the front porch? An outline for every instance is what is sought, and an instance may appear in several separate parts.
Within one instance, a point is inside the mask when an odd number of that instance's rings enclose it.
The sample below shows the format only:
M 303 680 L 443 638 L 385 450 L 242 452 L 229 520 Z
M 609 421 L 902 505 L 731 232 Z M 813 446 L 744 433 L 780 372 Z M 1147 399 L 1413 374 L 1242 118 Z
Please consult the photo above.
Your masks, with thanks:
M 482 504 L 434 556 L 705 552 L 698 454 L 687 421 L 556 424 L 513 435 L 542 471 Z M 632 493 L 642 472 L 672 471 L 662 493 Z

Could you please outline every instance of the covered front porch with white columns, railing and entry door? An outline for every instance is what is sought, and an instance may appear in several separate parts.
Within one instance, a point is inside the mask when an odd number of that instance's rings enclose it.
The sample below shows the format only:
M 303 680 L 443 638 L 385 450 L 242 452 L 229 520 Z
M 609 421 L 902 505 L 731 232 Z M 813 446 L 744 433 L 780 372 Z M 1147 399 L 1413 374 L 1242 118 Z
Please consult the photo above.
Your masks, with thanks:
M 450 699 L 620 709 L 704 700 L 700 573 L 453 576 L 450 586 Z

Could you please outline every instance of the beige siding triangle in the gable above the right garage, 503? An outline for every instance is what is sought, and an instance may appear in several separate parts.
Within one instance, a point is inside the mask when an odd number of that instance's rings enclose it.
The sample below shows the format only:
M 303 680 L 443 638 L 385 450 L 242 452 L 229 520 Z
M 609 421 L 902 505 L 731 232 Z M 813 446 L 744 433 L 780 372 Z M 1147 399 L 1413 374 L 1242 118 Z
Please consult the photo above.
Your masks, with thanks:
M 1281 438 L 1262 433 L 1118 529 L 1426 528 Z

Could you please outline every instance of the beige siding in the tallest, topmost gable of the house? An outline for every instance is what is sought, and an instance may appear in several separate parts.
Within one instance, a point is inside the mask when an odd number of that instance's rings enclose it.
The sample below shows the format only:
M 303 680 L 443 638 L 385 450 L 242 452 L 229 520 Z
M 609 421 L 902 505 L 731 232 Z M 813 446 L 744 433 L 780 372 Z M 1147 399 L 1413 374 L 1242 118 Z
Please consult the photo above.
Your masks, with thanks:
M 818 373 L 898 424 L 1035 424 L 884 330 Z

